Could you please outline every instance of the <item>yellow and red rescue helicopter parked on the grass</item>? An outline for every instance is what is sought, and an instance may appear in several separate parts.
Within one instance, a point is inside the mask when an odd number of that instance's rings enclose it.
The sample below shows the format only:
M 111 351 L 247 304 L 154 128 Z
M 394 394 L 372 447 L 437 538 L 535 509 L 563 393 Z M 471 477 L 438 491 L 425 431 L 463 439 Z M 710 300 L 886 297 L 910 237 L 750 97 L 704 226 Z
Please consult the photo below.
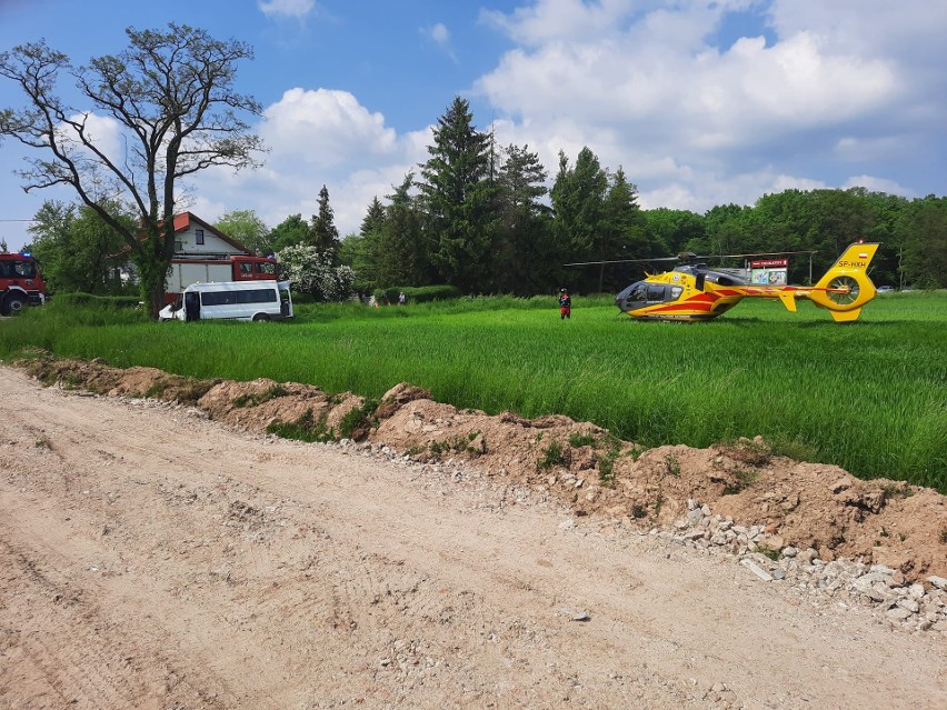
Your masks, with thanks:
M 632 283 L 615 297 L 615 304 L 635 319 L 695 322 L 712 320 L 745 298 L 779 300 L 791 312 L 796 312 L 798 299 L 808 299 L 817 307 L 827 309 L 836 322 L 854 321 L 861 313 L 861 308 L 875 298 L 875 284 L 868 278 L 867 270 L 878 247 L 878 243 L 860 241 L 849 246 L 815 286 L 747 283 L 731 273 L 711 271 L 706 264 L 688 263 L 699 259 L 695 254 L 671 257 L 685 263 L 672 271 L 648 274 L 644 281 Z M 591 263 L 620 262 L 595 261 L 565 266 Z

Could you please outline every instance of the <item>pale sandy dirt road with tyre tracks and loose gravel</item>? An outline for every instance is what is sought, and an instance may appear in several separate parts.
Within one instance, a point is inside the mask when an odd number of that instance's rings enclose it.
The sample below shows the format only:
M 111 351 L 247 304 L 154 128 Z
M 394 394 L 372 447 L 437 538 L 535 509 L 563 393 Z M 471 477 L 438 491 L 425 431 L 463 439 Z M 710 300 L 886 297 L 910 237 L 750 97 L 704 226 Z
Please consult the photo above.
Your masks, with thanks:
M 0 369 L 0 708 L 947 707 L 947 644 L 496 479 Z

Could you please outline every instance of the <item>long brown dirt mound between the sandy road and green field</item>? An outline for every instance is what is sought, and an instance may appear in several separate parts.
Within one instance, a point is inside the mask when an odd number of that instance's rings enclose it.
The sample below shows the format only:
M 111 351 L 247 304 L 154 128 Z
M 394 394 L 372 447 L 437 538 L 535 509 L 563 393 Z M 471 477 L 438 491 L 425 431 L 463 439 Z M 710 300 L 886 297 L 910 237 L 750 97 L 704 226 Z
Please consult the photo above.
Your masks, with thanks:
M 435 402 L 401 383 L 381 402 L 269 379 L 195 380 L 151 368 L 111 368 L 43 357 L 20 363 L 47 384 L 192 404 L 232 427 L 309 441 L 370 440 L 417 461 L 472 462 L 488 476 L 548 491 L 578 516 L 640 527 L 680 526 L 702 509 L 742 526 L 735 552 L 814 548 L 894 568 L 905 580 L 947 577 L 947 497 L 887 479 L 863 481 L 835 466 L 770 454 L 766 442 L 642 450 L 567 417 L 489 416 Z

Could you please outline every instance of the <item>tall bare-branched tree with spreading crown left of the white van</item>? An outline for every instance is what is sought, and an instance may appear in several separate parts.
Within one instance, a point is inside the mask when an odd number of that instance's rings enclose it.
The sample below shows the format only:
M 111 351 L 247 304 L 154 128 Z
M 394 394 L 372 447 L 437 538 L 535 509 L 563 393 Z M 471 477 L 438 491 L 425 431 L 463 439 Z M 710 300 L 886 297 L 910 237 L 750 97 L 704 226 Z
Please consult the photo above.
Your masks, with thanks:
M 20 171 L 26 191 L 72 186 L 122 236 L 157 318 L 175 251 L 179 179 L 212 166 L 257 167 L 262 142 L 238 113 L 259 114 L 260 106 L 232 88 L 236 62 L 253 57 L 248 44 L 173 22 L 167 31 L 126 33 L 129 46 L 120 54 L 78 69 L 44 41 L 0 53 L 0 76 L 18 82 L 28 99 L 26 109 L 0 111 L 0 138 L 43 151 Z M 63 73 L 91 110 L 57 96 Z M 106 140 L 112 127 L 118 141 Z M 140 231 L 109 209 L 116 202 L 140 217 Z

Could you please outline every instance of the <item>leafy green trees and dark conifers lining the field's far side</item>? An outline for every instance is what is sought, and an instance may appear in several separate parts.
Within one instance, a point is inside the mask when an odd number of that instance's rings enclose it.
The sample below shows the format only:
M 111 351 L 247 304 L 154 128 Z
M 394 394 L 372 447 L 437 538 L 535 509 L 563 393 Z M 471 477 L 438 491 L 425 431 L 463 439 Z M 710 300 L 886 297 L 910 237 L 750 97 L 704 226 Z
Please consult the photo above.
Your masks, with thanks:
M 390 194 L 376 196 L 359 231 L 342 239 L 326 186 L 310 219 L 291 214 L 270 229 L 252 210 L 236 210 L 216 227 L 258 253 L 315 248 L 323 266 L 349 267 L 362 293 L 432 284 L 462 293 L 534 296 L 560 286 L 608 292 L 660 267 L 565 264 L 681 252 L 803 252 L 790 259 L 789 278 L 806 283 L 858 239 L 881 242 L 871 272 L 876 284 L 947 288 L 947 198 L 909 200 L 864 188 L 785 190 L 754 206 L 704 213 L 645 210 L 625 168 L 604 167 L 589 148 L 574 159 L 560 152 L 548 188 L 538 154 L 528 146 L 500 147 L 491 132 L 477 130 L 461 98 L 438 119 L 428 153 Z M 94 211 L 47 203 L 32 232 L 53 288 L 118 288 L 118 264 L 109 257 L 121 239 Z

